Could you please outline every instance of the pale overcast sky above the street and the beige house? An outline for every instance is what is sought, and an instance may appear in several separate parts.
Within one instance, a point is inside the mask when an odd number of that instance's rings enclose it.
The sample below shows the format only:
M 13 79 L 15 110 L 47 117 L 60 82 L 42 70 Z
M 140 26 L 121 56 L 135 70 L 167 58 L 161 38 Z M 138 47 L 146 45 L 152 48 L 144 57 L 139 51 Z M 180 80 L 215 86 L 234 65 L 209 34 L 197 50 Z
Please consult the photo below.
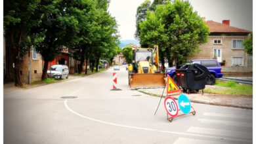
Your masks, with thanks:
M 137 7 L 143 2 L 144 0 L 111 0 L 109 11 L 117 20 L 121 40 L 135 39 L 135 16 Z M 253 30 L 252 0 L 190 0 L 190 3 L 205 20 L 230 20 L 230 26 Z

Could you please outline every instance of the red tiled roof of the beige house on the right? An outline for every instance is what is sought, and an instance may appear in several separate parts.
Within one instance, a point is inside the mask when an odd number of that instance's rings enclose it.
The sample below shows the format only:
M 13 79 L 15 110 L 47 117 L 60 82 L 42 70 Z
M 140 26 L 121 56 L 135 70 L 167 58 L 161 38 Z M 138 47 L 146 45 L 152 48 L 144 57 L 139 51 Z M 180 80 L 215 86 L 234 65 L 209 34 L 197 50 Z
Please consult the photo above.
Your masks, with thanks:
M 208 20 L 205 23 L 210 27 L 211 33 L 251 33 L 251 31 L 247 31 L 245 29 L 228 26 L 212 20 Z

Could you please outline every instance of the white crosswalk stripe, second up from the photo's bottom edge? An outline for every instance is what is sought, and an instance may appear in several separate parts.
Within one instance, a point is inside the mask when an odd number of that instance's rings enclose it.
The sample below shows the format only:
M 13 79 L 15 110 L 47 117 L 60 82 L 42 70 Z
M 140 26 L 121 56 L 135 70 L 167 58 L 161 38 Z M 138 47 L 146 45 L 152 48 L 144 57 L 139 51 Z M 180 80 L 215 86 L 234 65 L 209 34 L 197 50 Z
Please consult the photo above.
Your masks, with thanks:
M 238 132 L 232 130 L 219 130 L 212 128 L 200 128 L 200 127 L 190 127 L 186 132 L 192 132 L 197 134 L 209 134 L 209 135 L 224 135 L 228 137 L 241 137 L 244 139 L 253 139 L 253 134 L 251 132 Z

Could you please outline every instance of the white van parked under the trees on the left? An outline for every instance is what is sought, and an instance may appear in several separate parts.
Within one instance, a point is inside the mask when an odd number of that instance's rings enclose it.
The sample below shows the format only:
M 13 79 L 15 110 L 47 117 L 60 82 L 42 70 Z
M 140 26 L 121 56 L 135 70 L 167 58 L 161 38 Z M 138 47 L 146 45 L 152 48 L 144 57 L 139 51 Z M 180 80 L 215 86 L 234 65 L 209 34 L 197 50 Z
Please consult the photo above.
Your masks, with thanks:
M 67 65 L 53 65 L 47 70 L 48 77 L 54 77 L 55 79 L 68 79 L 69 71 Z

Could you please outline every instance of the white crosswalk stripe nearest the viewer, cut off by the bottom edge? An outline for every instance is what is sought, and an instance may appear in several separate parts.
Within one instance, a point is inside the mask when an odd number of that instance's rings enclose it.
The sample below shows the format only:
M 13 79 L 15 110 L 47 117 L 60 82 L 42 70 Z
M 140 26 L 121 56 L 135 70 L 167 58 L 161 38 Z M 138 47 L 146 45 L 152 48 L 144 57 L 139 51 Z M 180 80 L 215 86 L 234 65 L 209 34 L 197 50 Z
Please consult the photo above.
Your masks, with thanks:
M 184 137 L 179 137 L 173 144 L 180 144 L 180 143 L 189 143 L 189 144 L 225 144 L 224 142 L 218 142 L 218 141 L 206 141 L 206 140 L 200 140 L 200 139 L 188 139 Z M 228 143 L 226 143 L 228 144 Z

